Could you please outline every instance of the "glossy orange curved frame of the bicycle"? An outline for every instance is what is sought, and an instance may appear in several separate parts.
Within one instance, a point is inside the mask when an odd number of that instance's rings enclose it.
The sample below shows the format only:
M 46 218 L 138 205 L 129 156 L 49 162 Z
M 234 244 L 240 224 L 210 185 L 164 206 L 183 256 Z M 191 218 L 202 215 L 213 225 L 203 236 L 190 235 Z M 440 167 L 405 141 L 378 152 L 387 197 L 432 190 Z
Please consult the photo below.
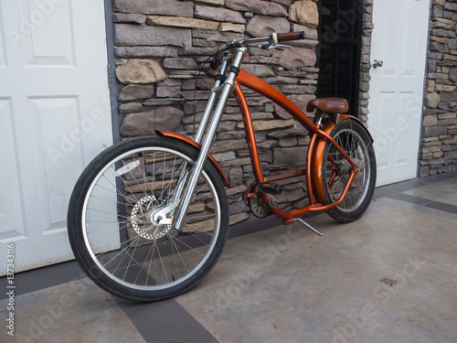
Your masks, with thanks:
M 254 177 L 256 178 L 257 183 L 265 182 L 267 179 L 268 181 L 272 180 L 283 180 L 291 177 L 298 177 L 305 175 L 306 177 L 306 188 L 308 189 L 308 196 L 310 198 L 310 205 L 308 207 L 305 207 L 303 209 L 296 209 L 292 210 L 290 212 L 285 212 L 282 211 L 282 209 L 279 209 L 277 206 L 271 207 L 271 211 L 273 212 L 274 215 L 276 215 L 278 218 L 287 221 L 291 220 L 293 218 L 297 218 L 300 216 L 303 216 L 304 214 L 310 212 L 310 211 L 319 211 L 319 210 L 325 210 L 325 209 L 331 209 L 334 208 L 338 205 L 340 205 L 343 200 L 345 199 L 345 195 L 347 194 L 347 191 L 349 190 L 349 187 L 356 176 L 356 170 L 357 166 L 354 163 L 354 161 L 345 153 L 343 148 L 338 145 L 335 140 L 329 135 L 333 126 L 335 124 L 331 124 L 331 126 L 327 126 L 324 129 L 321 129 L 319 125 L 314 125 L 314 123 L 308 118 L 308 116 L 303 113 L 302 110 L 300 110 L 293 102 L 291 102 L 285 95 L 282 94 L 281 91 L 277 91 L 274 87 L 272 87 L 270 84 L 267 82 L 260 80 L 259 78 L 255 77 L 254 75 L 251 75 L 249 72 L 245 70 L 239 70 L 239 76 L 237 80 L 235 81 L 237 88 L 235 89 L 235 96 L 239 102 L 239 108 L 243 117 L 243 122 L 244 122 L 244 127 L 245 127 L 245 132 L 246 132 L 246 139 L 248 142 L 249 150 L 250 150 L 250 158 L 251 158 L 251 163 L 252 163 L 252 170 L 254 172 Z M 308 130 L 311 136 L 311 143 L 308 147 L 308 153 L 306 155 L 306 167 L 303 171 L 295 171 L 295 172 L 290 172 L 290 173 L 285 173 L 280 176 L 272 176 L 272 177 L 263 177 L 263 174 L 261 172 L 261 167 L 260 167 L 260 158 L 259 158 L 259 153 L 257 151 L 257 143 L 255 141 L 255 134 L 254 134 L 254 129 L 253 129 L 253 124 L 252 124 L 252 118 L 250 116 L 250 109 L 248 106 L 248 102 L 246 101 L 246 97 L 244 96 L 243 91 L 241 90 L 240 86 L 245 86 L 252 91 L 256 91 L 260 93 L 261 95 L 265 96 L 266 98 L 270 99 L 272 102 L 277 103 L 280 105 L 284 110 L 286 110 L 288 113 L 292 115 L 293 118 L 295 118 L 299 123 L 302 123 L 303 126 Z M 338 199 L 335 203 L 327 206 L 323 206 L 320 202 L 316 202 L 314 200 L 314 187 L 313 187 L 313 182 L 321 182 L 321 177 L 322 177 L 322 172 L 312 170 L 312 166 L 314 166 L 315 169 L 315 164 L 313 163 L 314 158 L 320 158 L 320 161 L 322 162 L 322 156 L 319 156 L 318 154 L 322 155 L 322 148 L 323 144 L 322 142 L 329 141 L 332 145 L 335 145 L 335 148 L 345 157 L 345 159 L 353 166 L 353 171 L 351 173 L 351 176 L 349 177 L 349 180 L 345 186 L 345 189 L 342 193 L 341 198 Z M 316 152 L 316 148 L 319 150 Z M 319 165 L 320 168 L 320 165 Z M 319 177 L 319 179 L 315 179 L 315 177 Z M 317 194 L 317 200 L 318 201 L 324 201 L 323 195 L 320 194 L 321 192 L 318 192 Z M 264 200 L 266 203 L 269 203 L 269 196 L 261 193 L 261 196 L 264 197 Z

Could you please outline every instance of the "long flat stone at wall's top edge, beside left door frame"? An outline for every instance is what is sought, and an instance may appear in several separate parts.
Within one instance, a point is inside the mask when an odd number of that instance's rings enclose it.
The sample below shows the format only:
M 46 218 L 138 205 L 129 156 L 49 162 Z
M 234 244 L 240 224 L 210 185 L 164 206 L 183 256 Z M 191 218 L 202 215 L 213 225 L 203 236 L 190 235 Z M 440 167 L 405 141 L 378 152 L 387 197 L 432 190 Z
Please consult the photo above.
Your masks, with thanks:
M 161 16 L 194 16 L 194 3 L 179 0 L 113 0 L 114 12 Z

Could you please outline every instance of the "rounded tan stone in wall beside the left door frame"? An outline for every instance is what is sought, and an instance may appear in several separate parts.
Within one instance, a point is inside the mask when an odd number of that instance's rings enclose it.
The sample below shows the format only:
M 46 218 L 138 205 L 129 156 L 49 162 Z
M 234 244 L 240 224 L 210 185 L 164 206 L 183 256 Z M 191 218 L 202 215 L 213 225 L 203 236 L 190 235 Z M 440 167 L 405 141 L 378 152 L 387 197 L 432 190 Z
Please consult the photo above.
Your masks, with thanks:
M 154 59 L 131 59 L 116 68 L 121 83 L 146 84 L 166 79 L 165 71 Z

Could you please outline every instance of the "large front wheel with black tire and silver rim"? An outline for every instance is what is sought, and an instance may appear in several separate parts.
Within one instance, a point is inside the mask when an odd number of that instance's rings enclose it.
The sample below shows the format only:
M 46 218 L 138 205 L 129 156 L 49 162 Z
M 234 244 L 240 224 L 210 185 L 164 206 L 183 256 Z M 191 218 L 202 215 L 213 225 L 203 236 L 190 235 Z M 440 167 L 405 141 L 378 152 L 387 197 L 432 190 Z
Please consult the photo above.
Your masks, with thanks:
M 197 155 L 173 138 L 133 138 L 86 167 L 69 200 L 69 242 L 95 284 L 125 299 L 162 300 L 192 288 L 217 263 L 228 236 L 228 200 L 208 162 L 182 230 L 152 220 L 170 205 Z

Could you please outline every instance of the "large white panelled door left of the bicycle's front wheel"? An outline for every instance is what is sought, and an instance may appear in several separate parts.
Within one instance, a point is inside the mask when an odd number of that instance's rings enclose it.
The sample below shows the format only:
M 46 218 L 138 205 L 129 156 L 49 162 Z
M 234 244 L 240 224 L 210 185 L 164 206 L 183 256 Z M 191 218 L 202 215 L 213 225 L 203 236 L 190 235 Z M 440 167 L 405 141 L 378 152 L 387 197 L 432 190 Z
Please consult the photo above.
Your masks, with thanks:
M 73 258 L 83 167 L 112 145 L 104 0 L 0 0 L 0 274 Z

